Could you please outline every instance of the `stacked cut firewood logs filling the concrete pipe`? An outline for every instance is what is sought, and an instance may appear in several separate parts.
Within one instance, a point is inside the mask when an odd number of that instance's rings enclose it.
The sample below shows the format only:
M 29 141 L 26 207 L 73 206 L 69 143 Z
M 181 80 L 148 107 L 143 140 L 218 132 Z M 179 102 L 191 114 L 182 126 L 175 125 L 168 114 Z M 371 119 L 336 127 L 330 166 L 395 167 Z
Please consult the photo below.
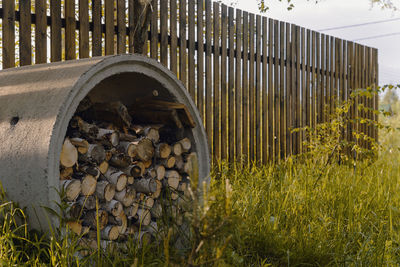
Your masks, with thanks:
M 66 220 L 88 244 L 156 236 L 165 207 L 182 224 L 197 155 L 182 129 L 133 124 L 120 102 L 79 107 L 60 156 Z M 97 203 L 97 204 L 96 204 Z

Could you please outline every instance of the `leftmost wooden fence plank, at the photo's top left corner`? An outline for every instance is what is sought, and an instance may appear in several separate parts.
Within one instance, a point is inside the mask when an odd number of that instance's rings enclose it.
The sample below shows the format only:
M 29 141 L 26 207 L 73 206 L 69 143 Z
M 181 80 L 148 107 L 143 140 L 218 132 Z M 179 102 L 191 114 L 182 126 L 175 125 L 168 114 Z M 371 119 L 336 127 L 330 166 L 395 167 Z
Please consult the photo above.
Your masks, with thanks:
M 15 2 L 3 2 L 3 69 L 15 67 Z

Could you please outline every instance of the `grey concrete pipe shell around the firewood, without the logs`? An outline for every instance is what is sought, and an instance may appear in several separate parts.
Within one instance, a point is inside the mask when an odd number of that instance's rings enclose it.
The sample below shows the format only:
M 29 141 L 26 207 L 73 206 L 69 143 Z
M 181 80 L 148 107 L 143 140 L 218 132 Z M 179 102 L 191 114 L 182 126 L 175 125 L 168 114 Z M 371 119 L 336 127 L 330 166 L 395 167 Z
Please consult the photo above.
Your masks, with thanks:
M 48 228 L 40 207 L 56 208 L 59 158 L 68 123 L 88 94 L 98 101 L 151 96 L 184 103 L 196 126 L 187 129 L 208 181 L 210 155 L 200 115 L 184 85 L 158 62 L 118 55 L 0 71 L 0 180 L 10 200 L 27 207 L 30 226 Z

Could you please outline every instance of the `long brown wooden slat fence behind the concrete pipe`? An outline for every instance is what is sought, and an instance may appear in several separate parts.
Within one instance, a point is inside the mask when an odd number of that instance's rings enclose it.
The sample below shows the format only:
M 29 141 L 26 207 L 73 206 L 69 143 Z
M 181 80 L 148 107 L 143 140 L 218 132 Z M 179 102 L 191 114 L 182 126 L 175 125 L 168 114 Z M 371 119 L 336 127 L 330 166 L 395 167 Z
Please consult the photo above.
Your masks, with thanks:
M 290 129 L 326 122 L 338 101 L 378 83 L 370 47 L 211 0 L 153 0 L 152 8 L 148 55 L 186 85 L 215 159 L 301 153 L 303 137 Z M 3 68 L 129 53 L 135 45 L 133 0 L 3 0 L 0 18 Z M 376 109 L 377 96 L 357 98 L 350 112 L 377 120 L 357 105 Z M 348 138 L 352 130 L 377 138 L 366 123 L 352 127 Z

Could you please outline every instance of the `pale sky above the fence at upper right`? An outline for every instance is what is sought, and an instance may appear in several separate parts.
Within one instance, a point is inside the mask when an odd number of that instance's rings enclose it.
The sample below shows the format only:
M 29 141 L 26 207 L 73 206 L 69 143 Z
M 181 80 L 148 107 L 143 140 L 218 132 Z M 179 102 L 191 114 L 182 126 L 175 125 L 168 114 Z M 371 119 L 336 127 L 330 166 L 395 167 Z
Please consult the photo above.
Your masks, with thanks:
M 227 4 L 232 0 L 223 1 Z M 236 8 L 259 13 L 257 0 L 237 0 Z M 400 0 L 392 0 L 399 11 L 382 10 L 379 6 L 371 6 L 369 0 L 292 0 L 294 8 L 287 10 L 287 1 L 266 0 L 270 7 L 264 16 L 294 23 L 302 27 L 320 31 L 321 29 L 375 22 L 400 18 Z M 324 31 L 323 33 L 345 40 L 398 33 L 400 20 Z M 378 48 L 380 84 L 400 84 L 400 34 L 357 41 L 363 45 Z

